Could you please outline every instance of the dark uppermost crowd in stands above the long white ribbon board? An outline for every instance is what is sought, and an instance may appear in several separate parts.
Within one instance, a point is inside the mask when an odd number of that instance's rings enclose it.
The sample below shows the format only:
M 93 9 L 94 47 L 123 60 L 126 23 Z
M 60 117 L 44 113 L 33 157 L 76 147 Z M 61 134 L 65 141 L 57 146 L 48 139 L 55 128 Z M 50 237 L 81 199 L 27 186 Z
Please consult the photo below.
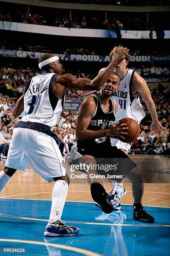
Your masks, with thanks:
M 56 9 L 56 13 L 61 13 Z M 49 12 L 28 12 L 28 9 L 9 10 L 9 8 L 0 9 L 0 20 L 14 21 L 20 23 L 29 23 L 36 25 L 47 25 L 65 28 L 94 28 L 94 29 L 109 29 L 109 30 L 140 30 L 140 29 L 168 29 L 168 23 L 164 20 L 166 14 L 159 14 L 152 17 L 147 23 L 147 16 L 142 16 L 141 13 L 111 13 L 108 12 L 107 18 L 105 12 L 94 13 L 88 15 L 75 12 L 70 15 L 68 13 L 61 13 L 58 16 L 53 16 Z M 162 18 L 163 16 L 163 18 Z M 167 17 L 168 18 L 168 17 Z M 147 25 L 148 24 L 148 25 Z

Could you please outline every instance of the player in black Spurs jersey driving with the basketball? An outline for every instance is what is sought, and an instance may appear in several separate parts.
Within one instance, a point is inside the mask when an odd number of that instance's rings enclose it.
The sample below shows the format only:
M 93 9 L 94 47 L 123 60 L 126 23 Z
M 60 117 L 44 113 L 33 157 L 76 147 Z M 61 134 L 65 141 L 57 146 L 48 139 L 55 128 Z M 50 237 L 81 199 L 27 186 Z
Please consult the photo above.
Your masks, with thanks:
M 116 92 L 119 84 L 120 77 L 114 72 L 99 92 L 87 96 L 82 102 L 76 125 L 77 145 L 75 145 L 75 151 L 71 151 L 71 159 L 73 159 L 72 163 L 74 163 L 74 161 L 77 161 L 77 156 L 79 162 L 85 163 L 87 166 L 89 164 L 96 164 L 95 159 L 98 158 L 112 158 L 114 156 L 118 159 L 128 159 L 128 165 L 124 166 L 126 173 L 123 174 L 123 177 L 127 177 L 132 181 L 135 206 L 133 219 L 153 223 L 155 221 L 154 218 L 143 210 L 141 204 L 143 177 L 136 167 L 137 164 L 121 149 L 117 149 L 116 146 L 112 147 L 110 142 L 110 136 L 116 136 L 122 139 L 128 130 L 125 127 L 126 124 L 113 124 L 115 121 L 115 112 L 117 111 L 117 102 L 115 100 L 113 101 L 111 96 Z M 105 213 L 112 212 L 114 209 L 110 197 L 102 185 L 95 178 L 88 181 L 91 184 L 90 189 L 93 200 L 100 205 Z

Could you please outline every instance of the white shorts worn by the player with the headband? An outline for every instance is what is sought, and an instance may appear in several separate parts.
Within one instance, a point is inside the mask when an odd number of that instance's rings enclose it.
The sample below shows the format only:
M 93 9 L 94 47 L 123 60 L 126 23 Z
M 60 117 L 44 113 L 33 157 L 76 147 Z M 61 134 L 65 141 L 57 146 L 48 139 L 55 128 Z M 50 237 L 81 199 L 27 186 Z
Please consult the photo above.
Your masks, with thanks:
M 14 128 L 5 166 L 23 171 L 31 166 L 47 182 L 66 173 L 54 138 L 28 128 Z

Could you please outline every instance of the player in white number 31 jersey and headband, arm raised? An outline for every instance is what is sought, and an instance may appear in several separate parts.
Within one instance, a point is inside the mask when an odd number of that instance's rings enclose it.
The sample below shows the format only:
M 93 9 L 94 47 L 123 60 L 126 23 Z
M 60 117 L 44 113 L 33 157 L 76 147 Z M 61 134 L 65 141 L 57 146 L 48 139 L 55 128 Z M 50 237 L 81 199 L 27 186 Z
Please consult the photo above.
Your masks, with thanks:
M 57 56 L 44 54 L 39 59 L 43 74 L 28 80 L 23 96 L 16 102 L 14 116 L 24 113 L 15 126 L 5 169 L 0 172 L 0 191 L 17 169 L 30 166 L 47 182 L 55 181 L 52 206 L 45 236 L 74 236 L 78 228 L 61 221 L 67 197 L 69 179 L 59 150 L 53 126 L 58 122 L 67 87 L 77 90 L 99 90 L 125 57 L 126 49 L 119 51 L 102 74 L 93 80 L 62 75 L 62 64 Z M 29 162 L 29 164 L 28 164 Z

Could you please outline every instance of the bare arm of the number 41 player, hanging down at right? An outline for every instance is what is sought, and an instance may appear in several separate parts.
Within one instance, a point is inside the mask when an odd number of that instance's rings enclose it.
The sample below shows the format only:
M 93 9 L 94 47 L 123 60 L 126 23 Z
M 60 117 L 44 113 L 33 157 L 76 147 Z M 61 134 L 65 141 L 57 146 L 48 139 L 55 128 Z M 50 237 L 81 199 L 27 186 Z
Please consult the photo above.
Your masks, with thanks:
M 160 121 L 158 120 L 158 115 L 155 108 L 155 103 L 151 97 L 150 90 L 148 85 L 137 72 L 135 72 L 133 77 L 133 88 L 136 92 L 139 92 L 142 96 L 143 100 L 146 102 L 150 115 L 152 117 L 152 124 L 150 130 L 154 130 L 155 132 L 161 131 L 164 127 L 161 125 Z

